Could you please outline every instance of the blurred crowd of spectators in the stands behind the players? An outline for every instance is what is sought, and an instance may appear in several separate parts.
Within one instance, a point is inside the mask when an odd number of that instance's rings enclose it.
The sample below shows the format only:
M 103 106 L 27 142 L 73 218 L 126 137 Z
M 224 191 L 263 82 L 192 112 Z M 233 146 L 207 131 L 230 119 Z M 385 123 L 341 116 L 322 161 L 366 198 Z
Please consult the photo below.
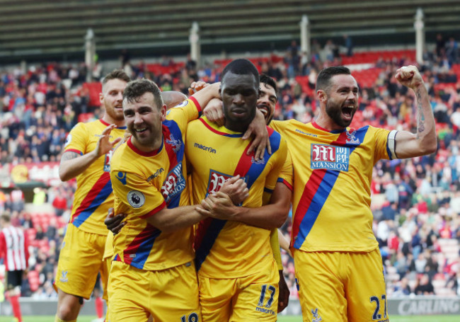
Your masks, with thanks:
M 308 79 L 314 89 L 316 75 L 323 67 L 341 64 L 341 58 L 352 57 L 350 38 L 344 46 L 332 40 L 321 47 L 313 42 L 311 56 L 300 52 L 296 42 L 287 48 L 284 57 L 260 59 L 258 68 L 277 79 L 280 87 L 275 119 L 313 120 L 317 113 L 316 98 L 303 90 L 297 76 Z M 439 149 L 436 154 L 410 160 L 379 161 L 374 167 L 372 210 L 374 233 L 384 261 L 388 293 L 460 294 L 460 82 L 452 71 L 458 64 L 458 45 L 454 38 L 437 39 L 435 50 L 425 52 L 420 70 L 430 93 L 437 120 Z M 343 54 L 341 53 L 343 52 Z M 413 93 L 394 80 L 396 69 L 413 64 L 410 59 L 377 59 L 371 68 L 379 75 L 372 86 L 360 88 L 360 124 L 415 132 L 415 99 Z M 163 57 L 161 66 L 176 64 Z M 130 62 L 122 55 L 122 67 L 132 78 L 145 77 L 156 81 L 163 91 L 188 93 L 192 81 L 219 81 L 222 64 L 205 63 L 197 68 L 190 57 L 170 74 L 155 74 L 143 61 Z M 0 168 L 7 164 L 59 161 L 67 133 L 81 115 L 100 115 L 98 106 L 89 104 L 88 90 L 82 86 L 86 78 L 84 64 L 41 64 L 23 71 L 0 71 Z M 93 78 L 98 80 L 100 65 Z M 439 89 L 438 84 L 453 84 Z M 40 286 L 30 292 L 25 280 L 23 294 L 37 298 L 54 298 L 52 279 L 59 257 L 66 222 L 71 207 L 75 182 L 62 183 L 35 192 L 34 202 L 48 202 L 54 209 L 54 220 L 42 227 L 34 226 L 25 212 L 21 190 L 0 190 L 0 211 L 11 212 L 12 223 L 24 229 L 35 229 L 35 238 L 46 241 L 47 247 L 34 247 L 30 270 L 38 271 Z M 36 199 L 36 200 L 35 200 Z M 59 224 L 59 222 L 61 224 Z M 282 227 L 289 238 L 290 217 Z M 454 246 L 444 248 L 442 241 L 454 240 Z M 455 248 L 456 246 L 456 248 Z M 447 251 L 446 251 L 447 250 Z M 452 250 L 454 253 L 452 253 Z M 455 253 L 456 251 L 456 253 Z M 284 274 L 292 297 L 297 296 L 292 258 L 283 253 Z M 436 282 L 435 282 L 436 281 Z M 442 281 L 442 282 L 439 282 Z M 433 287 L 436 284 L 439 287 Z

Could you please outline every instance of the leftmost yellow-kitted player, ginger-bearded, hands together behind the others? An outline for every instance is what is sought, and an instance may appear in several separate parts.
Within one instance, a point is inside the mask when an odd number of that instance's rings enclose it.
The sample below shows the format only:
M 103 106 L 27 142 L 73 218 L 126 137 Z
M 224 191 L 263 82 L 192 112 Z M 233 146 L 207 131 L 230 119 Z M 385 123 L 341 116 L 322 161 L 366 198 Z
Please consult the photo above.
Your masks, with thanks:
M 76 178 L 71 219 L 59 255 L 55 287 L 58 289 L 55 321 L 76 321 L 93 291 L 98 272 L 107 281 L 103 251 L 107 230 L 103 224 L 113 205 L 110 185 L 112 149 L 125 133 L 122 95 L 129 76 L 115 70 L 103 79 L 100 120 L 77 124 L 69 133 L 59 165 L 63 181 Z

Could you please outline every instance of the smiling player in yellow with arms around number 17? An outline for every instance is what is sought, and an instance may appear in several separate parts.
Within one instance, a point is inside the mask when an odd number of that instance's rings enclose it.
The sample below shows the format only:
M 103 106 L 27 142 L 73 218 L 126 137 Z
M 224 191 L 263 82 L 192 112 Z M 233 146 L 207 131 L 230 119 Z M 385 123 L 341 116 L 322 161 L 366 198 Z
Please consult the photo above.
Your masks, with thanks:
M 188 206 L 183 139 L 187 123 L 218 86 L 185 100 L 167 117 L 153 82 L 133 81 L 125 89 L 132 137 L 115 151 L 110 172 L 115 213 L 126 214 L 125 228 L 113 241 L 111 321 L 147 321 L 149 315 L 154 321 L 201 320 L 192 225 L 205 216 Z

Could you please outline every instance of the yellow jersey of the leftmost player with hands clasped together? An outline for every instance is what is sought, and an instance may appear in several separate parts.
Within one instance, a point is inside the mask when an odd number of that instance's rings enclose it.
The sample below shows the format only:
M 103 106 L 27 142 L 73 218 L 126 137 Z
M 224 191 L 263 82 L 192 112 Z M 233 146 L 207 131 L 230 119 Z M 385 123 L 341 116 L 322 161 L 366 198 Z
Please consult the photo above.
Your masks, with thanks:
M 108 123 L 96 120 L 78 123 L 69 132 L 64 152 L 73 151 L 80 155 L 96 149 L 99 137 Z M 110 132 L 110 141 L 123 137 L 126 127 L 117 127 Z M 110 159 L 113 151 L 91 163 L 76 176 L 77 188 L 74 195 L 70 223 L 88 233 L 107 235 L 104 219 L 113 207 L 112 185 L 110 184 Z

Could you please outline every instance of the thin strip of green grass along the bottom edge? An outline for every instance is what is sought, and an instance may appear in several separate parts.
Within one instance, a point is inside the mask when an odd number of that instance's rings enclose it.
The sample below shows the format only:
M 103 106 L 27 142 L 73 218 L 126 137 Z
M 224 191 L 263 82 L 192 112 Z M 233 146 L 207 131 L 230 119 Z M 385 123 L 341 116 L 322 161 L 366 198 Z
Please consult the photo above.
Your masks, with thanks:
M 96 316 L 81 316 L 78 322 L 91 322 Z M 459 321 L 458 316 L 391 316 L 391 322 L 454 322 Z M 0 322 L 12 322 L 13 318 L 0 316 Z M 23 322 L 52 322 L 54 316 L 24 316 Z M 278 322 L 301 322 L 300 316 L 280 316 Z

